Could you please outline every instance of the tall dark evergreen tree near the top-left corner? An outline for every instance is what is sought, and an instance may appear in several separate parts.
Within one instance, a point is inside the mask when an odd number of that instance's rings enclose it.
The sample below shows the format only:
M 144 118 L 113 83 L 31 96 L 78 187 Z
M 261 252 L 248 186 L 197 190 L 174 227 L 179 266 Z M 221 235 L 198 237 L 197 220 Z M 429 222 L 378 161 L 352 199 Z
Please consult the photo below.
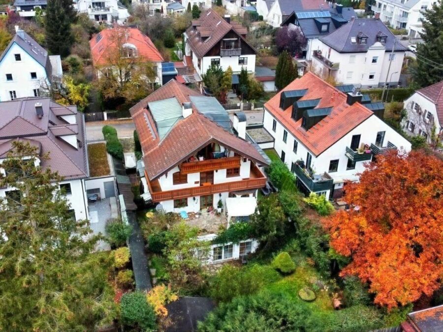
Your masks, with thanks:
M 71 16 L 67 0 L 48 1 L 46 7 L 46 46 L 49 52 L 54 55 L 65 57 L 69 55 L 69 48 L 72 45 Z

